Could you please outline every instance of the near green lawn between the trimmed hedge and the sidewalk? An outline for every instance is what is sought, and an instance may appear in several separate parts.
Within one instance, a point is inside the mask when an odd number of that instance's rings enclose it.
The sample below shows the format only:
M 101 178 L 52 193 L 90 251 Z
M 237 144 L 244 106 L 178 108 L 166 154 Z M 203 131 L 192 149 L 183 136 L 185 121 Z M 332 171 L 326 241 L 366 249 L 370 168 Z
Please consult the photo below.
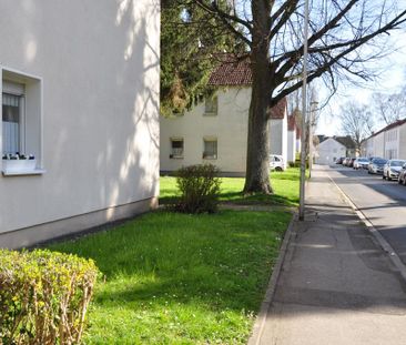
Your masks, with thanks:
M 155 212 L 51 250 L 92 257 L 105 277 L 87 344 L 244 344 L 290 219 Z

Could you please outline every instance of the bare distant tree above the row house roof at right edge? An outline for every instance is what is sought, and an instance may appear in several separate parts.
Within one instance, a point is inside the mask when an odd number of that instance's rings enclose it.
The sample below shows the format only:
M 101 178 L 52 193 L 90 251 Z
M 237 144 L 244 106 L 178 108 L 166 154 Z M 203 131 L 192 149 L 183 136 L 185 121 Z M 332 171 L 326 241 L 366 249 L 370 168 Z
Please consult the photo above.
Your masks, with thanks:
M 375 92 L 373 106 L 377 118 L 386 124 L 406 118 L 406 85 L 396 93 Z

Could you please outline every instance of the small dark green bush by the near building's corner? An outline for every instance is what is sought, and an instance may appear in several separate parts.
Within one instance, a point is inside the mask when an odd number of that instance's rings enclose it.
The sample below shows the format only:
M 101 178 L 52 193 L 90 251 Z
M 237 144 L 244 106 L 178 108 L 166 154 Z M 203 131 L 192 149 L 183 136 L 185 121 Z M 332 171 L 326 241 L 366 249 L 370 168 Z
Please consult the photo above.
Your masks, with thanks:
M 185 213 L 213 213 L 217 211 L 221 180 L 220 170 L 212 164 L 181 168 L 176 184 L 181 197 L 176 209 Z

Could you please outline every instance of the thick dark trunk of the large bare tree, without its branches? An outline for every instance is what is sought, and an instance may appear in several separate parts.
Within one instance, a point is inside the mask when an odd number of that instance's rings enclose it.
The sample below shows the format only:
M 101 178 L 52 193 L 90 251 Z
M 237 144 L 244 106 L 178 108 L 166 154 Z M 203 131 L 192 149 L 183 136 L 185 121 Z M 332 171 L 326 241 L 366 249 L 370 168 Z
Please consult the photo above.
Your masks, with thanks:
M 268 0 L 252 1 L 252 98 L 248 115 L 246 175 L 244 193 L 273 193 L 270 181 L 268 105 L 272 95 L 270 80 L 270 13 Z

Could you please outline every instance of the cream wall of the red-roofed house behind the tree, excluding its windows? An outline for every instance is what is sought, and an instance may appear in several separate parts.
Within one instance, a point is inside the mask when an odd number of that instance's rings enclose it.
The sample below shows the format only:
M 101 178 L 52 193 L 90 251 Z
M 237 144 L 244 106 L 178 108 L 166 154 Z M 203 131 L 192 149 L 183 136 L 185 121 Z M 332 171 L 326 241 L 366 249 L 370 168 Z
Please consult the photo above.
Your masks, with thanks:
M 216 92 L 216 116 L 204 115 L 204 102 L 183 116 L 161 116 L 161 171 L 191 164 L 212 163 L 223 172 L 245 173 L 251 88 L 227 88 Z M 204 160 L 204 138 L 217 139 L 217 159 Z M 170 159 L 171 138 L 183 138 L 183 159 Z

